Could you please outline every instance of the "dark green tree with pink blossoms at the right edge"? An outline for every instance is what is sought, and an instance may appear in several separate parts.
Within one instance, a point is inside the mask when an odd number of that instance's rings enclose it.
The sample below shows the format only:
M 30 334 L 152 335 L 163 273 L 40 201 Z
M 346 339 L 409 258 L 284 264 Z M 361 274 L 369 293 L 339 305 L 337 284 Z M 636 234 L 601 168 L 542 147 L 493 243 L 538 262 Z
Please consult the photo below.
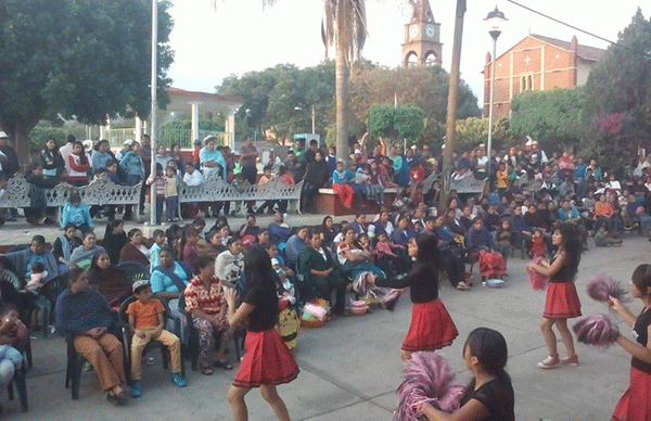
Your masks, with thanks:
M 622 169 L 651 141 L 651 20 L 641 10 L 592 68 L 586 84 L 586 149 Z

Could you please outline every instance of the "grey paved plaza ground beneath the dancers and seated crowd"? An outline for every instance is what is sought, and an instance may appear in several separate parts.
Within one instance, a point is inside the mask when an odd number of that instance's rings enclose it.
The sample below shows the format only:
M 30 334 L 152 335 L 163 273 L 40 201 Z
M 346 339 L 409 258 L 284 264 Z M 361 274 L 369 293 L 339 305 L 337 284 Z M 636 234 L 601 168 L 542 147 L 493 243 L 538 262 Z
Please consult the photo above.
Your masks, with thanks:
M 322 216 L 290 215 L 292 226 L 320 224 Z M 342 218 L 336 218 L 341 220 Z M 352 218 L 346 218 L 350 220 Z M 258 218 L 267 226 L 269 216 Z M 235 218 L 232 227 L 239 227 Z M 208 220 L 208 226 L 214 219 Z M 128 228 L 130 225 L 127 226 Z M 34 233 L 43 233 L 53 241 L 58 230 L 31 230 L 24 222 L 8 222 L 0 228 L 0 244 L 26 243 Z M 103 228 L 98 229 L 99 237 Z M 628 234 L 620 248 L 595 248 L 584 254 L 577 289 L 584 315 L 608 312 L 604 305 L 591 301 L 585 286 L 591 276 L 607 273 L 624 283 L 635 267 L 649 263 L 651 243 L 637 234 Z M 518 253 L 516 253 L 518 255 Z M 562 367 L 544 371 L 536 363 L 547 356 L 538 323 L 545 292 L 533 291 L 525 277 L 525 260 L 509 259 L 506 285 L 499 290 L 483 288 L 480 282 L 470 292 L 459 292 L 442 281 L 441 297 L 457 323 L 460 336 L 441 350 L 457 373 L 457 380 L 468 382 L 469 373 L 461 359 L 461 348 L 468 333 L 476 327 L 499 330 L 509 345 L 507 369 L 515 390 L 515 416 L 520 421 L 608 421 L 617 399 L 628 385 L 629 356 L 617 345 L 598 349 L 577 345 L 578 367 Z M 475 279 L 477 277 L 475 268 Z M 641 304 L 631 305 L 638 312 Z M 398 349 L 407 332 L 411 303 L 404 295 L 394 312 L 375 310 L 365 316 L 337 318 L 317 330 L 304 329 L 298 336 L 295 356 L 301 374 L 294 382 L 279 387 L 293 420 L 366 421 L 391 420 L 396 401 L 395 390 L 401 381 Z M 630 329 L 620 322 L 624 334 Z M 64 388 L 65 344 L 50 335 L 34 333 L 34 369 L 27 379 L 29 411 L 20 412 L 20 404 L 8 403 L 2 396 L 3 416 L 15 420 L 230 420 L 226 393 L 234 371 L 217 371 L 212 377 L 188 368 L 188 387 L 173 385 L 159 363 L 144 368 L 143 395 L 131 399 L 127 407 L 106 403 L 94 373 L 84 373 L 80 398 L 72 400 Z M 560 345 L 561 356 L 563 347 Z M 231 353 L 231 357 L 232 353 Z M 257 391 L 247 404 L 250 419 L 273 420 L 269 406 Z

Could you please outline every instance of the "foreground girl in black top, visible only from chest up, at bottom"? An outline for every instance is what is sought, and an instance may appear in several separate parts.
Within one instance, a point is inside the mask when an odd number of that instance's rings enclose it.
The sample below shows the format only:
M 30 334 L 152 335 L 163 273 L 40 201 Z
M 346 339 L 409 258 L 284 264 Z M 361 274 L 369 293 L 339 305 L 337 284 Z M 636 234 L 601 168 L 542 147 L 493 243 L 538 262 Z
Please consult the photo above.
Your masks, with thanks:
M 505 371 L 507 358 L 507 341 L 501 333 L 488 328 L 473 330 L 463 345 L 463 360 L 473 379 L 461 398 L 461 408 L 445 413 L 423 404 L 421 412 L 431 421 L 514 421 L 515 398 Z

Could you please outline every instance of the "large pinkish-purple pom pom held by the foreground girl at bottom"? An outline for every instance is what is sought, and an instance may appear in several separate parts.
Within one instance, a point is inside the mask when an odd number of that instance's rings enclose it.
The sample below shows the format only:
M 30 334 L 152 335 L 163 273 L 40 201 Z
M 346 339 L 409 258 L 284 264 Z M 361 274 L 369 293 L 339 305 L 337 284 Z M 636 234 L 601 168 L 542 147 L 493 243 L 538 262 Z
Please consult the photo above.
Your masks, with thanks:
M 444 412 L 459 409 L 465 386 L 455 383 L 447 361 L 434 352 L 419 352 L 405 363 L 405 381 L 398 387 L 396 421 L 418 421 L 427 403 Z

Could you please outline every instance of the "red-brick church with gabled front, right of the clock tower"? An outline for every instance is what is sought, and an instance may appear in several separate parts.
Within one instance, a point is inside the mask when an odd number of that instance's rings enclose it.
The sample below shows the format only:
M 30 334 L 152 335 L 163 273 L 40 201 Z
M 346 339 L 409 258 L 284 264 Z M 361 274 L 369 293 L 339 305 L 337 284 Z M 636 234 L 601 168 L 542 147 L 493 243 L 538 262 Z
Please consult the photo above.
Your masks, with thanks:
M 604 53 L 605 50 L 579 44 L 576 37 L 567 42 L 541 35 L 526 36 L 496 60 L 495 119 L 510 116 L 511 100 L 520 92 L 585 85 L 590 69 Z M 490 72 L 488 53 L 484 66 L 484 117 L 488 117 Z

